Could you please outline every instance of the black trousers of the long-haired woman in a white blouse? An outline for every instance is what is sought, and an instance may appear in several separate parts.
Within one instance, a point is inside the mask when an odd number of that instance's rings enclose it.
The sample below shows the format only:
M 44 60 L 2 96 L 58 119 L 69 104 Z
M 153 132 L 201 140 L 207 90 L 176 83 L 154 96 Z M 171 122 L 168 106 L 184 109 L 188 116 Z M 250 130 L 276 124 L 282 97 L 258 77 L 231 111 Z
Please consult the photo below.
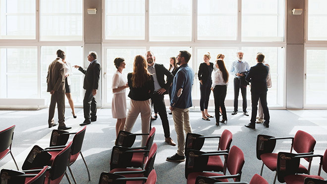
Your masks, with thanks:
M 227 92 L 227 86 L 217 85 L 214 88 L 214 98 L 215 98 L 215 117 L 216 122 L 219 122 L 219 107 L 221 108 L 222 119 L 227 119 L 226 108 L 225 108 L 225 97 Z

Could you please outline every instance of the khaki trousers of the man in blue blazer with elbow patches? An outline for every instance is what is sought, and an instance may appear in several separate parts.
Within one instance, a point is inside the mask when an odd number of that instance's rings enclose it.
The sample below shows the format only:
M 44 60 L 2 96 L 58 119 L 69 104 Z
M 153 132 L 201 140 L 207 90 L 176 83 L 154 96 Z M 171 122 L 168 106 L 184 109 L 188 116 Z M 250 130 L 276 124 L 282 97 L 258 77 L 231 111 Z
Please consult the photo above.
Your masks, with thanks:
M 192 133 L 192 128 L 190 125 L 190 116 L 189 116 L 190 108 L 180 109 L 173 108 L 172 109 L 172 118 L 175 124 L 175 131 L 177 134 L 177 154 L 180 156 L 185 156 L 185 136 L 186 134 Z M 183 131 L 184 130 L 184 131 Z

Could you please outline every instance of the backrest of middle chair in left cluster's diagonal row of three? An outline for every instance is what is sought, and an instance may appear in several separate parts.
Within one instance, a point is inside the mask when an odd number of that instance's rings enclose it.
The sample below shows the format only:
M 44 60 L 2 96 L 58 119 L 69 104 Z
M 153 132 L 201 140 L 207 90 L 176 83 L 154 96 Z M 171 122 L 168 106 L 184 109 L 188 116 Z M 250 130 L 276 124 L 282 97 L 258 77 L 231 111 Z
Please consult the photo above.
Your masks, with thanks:
M 59 177 L 62 177 L 66 172 L 66 168 L 70 158 L 70 149 L 72 141 L 67 144 L 55 157 L 51 165 L 51 180 L 55 180 Z

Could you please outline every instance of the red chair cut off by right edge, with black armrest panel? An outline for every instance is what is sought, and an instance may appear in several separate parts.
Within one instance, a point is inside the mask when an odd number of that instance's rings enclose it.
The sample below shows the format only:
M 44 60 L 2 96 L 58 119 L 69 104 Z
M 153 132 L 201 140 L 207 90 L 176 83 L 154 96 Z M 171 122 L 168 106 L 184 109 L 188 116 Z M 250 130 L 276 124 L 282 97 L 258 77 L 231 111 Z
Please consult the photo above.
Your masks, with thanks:
M 300 158 L 307 157 L 320 157 L 318 175 L 297 174 L 297 168 L 300 165 Z M 305 178 L 315 178 L 319 180 L 324 180 L 324 178 L 320 176 L 321 169 L 323 168 L 323 170 L 327 173 L 327 149 L 324 155 L 303 155 L 288 152 L 279 152 L 277 158 L 277 177 L 280 183 L 285 182 L 286 184 L 303 184 Z

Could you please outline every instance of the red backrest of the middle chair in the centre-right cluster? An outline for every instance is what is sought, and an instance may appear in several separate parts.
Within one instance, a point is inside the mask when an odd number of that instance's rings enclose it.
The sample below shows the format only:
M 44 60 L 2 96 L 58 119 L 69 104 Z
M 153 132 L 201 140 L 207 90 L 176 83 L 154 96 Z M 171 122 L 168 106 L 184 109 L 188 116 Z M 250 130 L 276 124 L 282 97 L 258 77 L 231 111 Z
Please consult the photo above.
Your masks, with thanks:
M 237 146 L 232 146 L 229 150 L 227 158 L 227 169 L 231 175 L 242 174 L 242 168 L 244 165 L 243 151 Z M 239 182 L 241 177 L 234 178 L 235 182 Z

